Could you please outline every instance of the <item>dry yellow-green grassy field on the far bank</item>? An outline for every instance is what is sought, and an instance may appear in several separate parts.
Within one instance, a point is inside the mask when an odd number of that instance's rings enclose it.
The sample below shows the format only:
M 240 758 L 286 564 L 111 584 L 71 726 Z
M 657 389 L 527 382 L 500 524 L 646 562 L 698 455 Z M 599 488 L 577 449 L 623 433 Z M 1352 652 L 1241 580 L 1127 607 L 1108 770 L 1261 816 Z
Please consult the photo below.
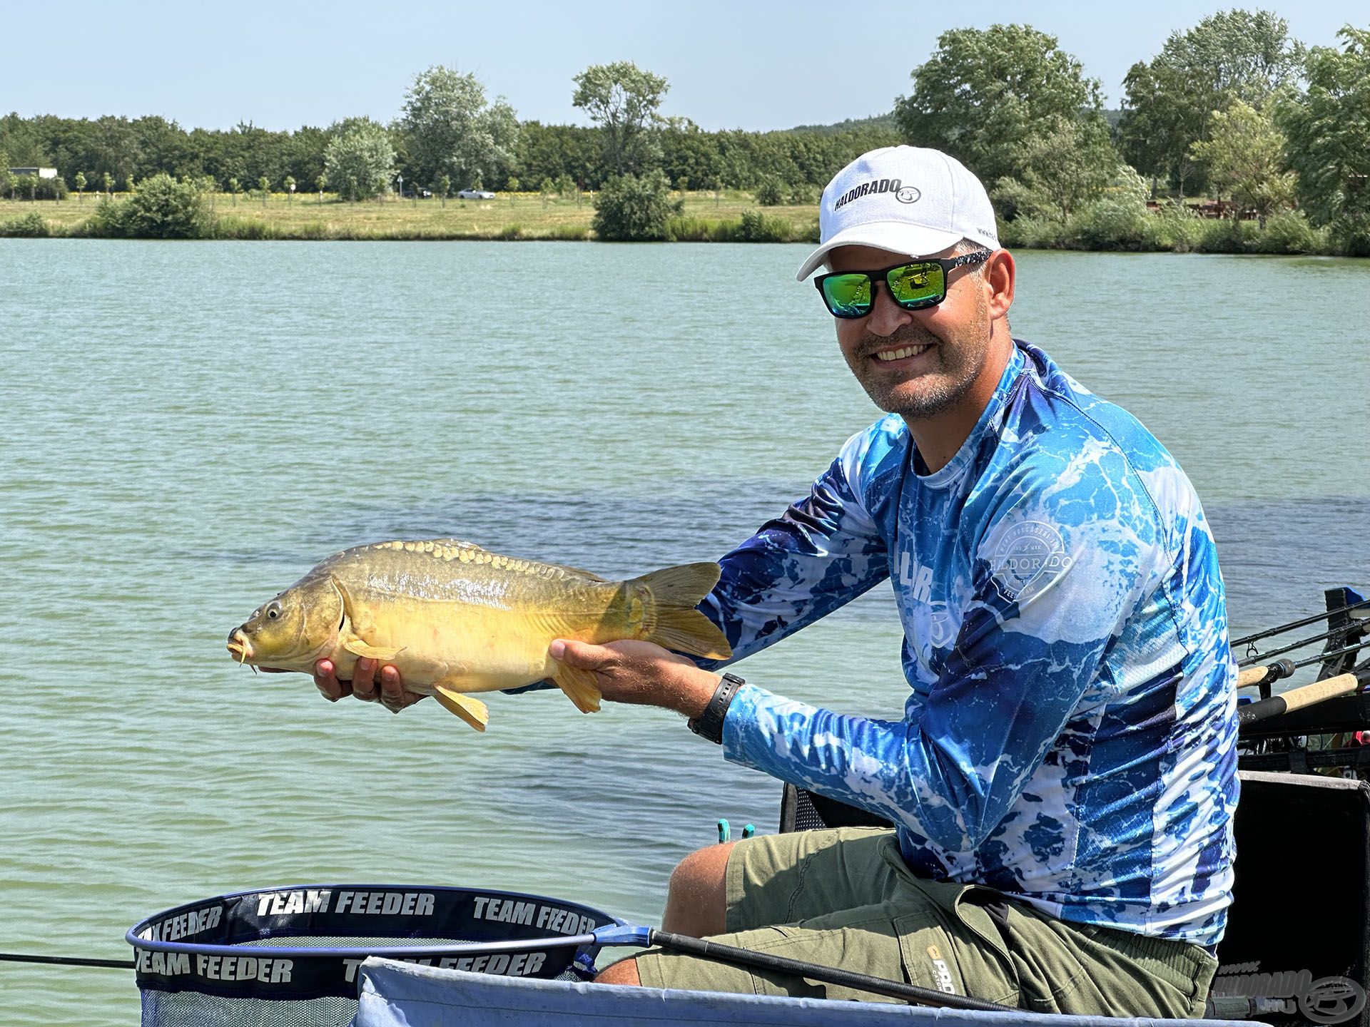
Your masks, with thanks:
M 807 240 L 818 234 L 818 207 L 758 207 L 749 193 L 684 193 L 684 218 L 689 237 L 726 237 L 729 223 L 745 211 L 763 211 L 769 219 L 785 222 L 789 234 Z M 121 203 L 119 193 L 114 201 Z M 53 234 L 67 234 L 89 218 L 99 199 L 0 200 L 0 223 L 27 214 L 40 214 Z M 230 238 L 356 238 L 356 240 L 441 240 L 441 238 L 592 238 L 595 207 L 586 193 L 574 199 L 544 200 L 538 193 L 500 193 L 495 200 L 397 200 L 342 203 L 330 193 L 273 193 L 266 203 L 227 193 L 210 199 L 219 233 Z M 775 222 L 773 222 L 775 223 Z M 723 226 L 719 236 L 718 226 Z M 685 237 L 682 234 L 682 237 Z

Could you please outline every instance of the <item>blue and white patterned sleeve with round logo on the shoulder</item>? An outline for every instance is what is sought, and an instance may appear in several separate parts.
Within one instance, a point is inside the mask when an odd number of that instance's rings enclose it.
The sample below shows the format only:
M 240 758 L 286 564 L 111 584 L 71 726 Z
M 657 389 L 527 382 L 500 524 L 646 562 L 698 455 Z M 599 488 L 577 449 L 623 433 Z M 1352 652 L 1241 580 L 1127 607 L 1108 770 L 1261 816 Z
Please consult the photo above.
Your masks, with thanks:
M 977 524 L 966 576 L 941 583 L 964 597 L 960 626 L 904 720 L 748 685 L 725 722 L 727 759 L 891 819 L 906 856 L 927 842 L 964 853 L 1000 827 L 1166 559 L 1155 509 L 1117 451 L 1029 457 L 992 494 L 969 497 L 963 516 Z M 1022 827 L 999 841 L 1069 844 L 1059 823 Z

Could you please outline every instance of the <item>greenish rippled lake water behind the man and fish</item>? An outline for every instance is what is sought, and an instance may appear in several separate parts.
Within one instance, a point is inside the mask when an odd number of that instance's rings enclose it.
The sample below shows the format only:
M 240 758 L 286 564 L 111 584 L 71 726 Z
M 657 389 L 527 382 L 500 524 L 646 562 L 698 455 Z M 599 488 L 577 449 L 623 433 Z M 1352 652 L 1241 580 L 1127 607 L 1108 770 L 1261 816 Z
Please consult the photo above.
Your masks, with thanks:
M 0 241 L 0 952 L 126 957 L 288 882 L 562 896 L 658 923 L 780 786 L 671 713 L 329 705 L 223 639 L 327 553 L 456 535 L 604 576 L 712 559 L 875 416 L 803 246 Z M 1143 419 L 1234 633 L 1370 586 L 1370 262 L 1023 253 L 1014 331 Z M 885 589 L 743 664 L 897 715 Z M 0 1022 L 133 1024 L 132 974 L 0 963 Z

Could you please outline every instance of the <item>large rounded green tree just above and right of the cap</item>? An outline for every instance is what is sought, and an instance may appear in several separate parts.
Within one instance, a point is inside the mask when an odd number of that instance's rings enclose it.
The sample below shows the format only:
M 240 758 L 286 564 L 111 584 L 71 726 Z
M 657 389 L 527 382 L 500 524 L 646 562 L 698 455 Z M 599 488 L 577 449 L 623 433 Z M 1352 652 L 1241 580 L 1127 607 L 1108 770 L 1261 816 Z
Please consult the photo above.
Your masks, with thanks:
M 912 78 L 912 93 L 895 101 L 903 138 L 951 153 L 986 182 L 1021 178 L 1029 140 L 1103 107 L 1099 79 L 1026 25 L 944 31 Z

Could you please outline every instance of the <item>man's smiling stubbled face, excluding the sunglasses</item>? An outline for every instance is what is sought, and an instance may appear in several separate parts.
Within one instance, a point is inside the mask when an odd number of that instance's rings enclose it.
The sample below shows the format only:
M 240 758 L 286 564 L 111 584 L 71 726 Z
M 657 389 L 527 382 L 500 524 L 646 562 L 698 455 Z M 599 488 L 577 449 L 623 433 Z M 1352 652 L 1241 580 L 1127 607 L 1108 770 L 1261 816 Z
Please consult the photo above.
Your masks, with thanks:
M 908 259 L 873 246 L 838 246 L 829 255 L 833 271 L 869 271 Z M 932 418 L 954 408 L 985 371 L 989 303 L 974 270 L 955 268 L 947 299 L 936 307 L 901 309 L 881 279 L 870 314 L 834 318 L 843 356 L 877 407 L 907 420 Z

